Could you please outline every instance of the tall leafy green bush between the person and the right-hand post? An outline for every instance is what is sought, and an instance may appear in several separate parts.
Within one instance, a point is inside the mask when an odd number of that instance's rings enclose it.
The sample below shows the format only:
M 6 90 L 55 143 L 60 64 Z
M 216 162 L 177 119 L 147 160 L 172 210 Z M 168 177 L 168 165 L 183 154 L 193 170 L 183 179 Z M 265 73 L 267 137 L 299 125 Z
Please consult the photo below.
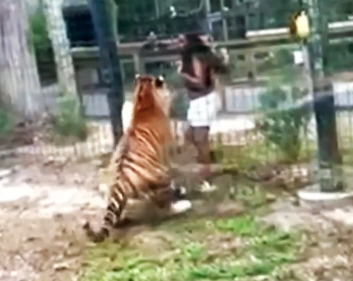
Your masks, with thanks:
M 298 160 L 303 145 L 301 132 L 311 118 L 308 108 L 293 106 L 304 95 L 305 91 L 294 86 L 290 90 L 270 86 L 259 99 L 264 113 L 257 120 L 257 126 L 267 145 L 279 149 L 289 162 Z

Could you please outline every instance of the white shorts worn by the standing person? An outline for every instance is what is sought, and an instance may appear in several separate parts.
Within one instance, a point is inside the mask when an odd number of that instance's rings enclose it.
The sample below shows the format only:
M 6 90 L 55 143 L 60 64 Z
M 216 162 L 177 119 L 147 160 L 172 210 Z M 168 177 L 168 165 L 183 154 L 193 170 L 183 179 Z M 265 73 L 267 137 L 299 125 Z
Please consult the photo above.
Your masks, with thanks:
M 190 101 L 187 120 L 192 127 L 211 126 L 221 108 L 218 92 L 213 91 L 207 96 Z

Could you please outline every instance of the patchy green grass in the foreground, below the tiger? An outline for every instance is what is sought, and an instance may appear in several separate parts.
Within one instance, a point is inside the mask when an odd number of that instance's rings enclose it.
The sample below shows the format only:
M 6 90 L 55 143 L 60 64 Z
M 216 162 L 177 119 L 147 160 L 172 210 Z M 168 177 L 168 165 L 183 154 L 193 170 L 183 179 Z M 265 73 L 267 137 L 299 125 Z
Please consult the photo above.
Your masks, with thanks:
M 157 243 L 136 243 L 132 237 L 125 245 L 106 242 L 87 249 L 80 280 L 273 279 L 285 265 L 296 262 L 299 251 L 299 236 L 264 227 L 251 216 L 202 219 L 194 229 L 190 222 L 180 222 L 178 233 L 174 229 L 175 224 L 169 230 L 167 224 L 149 231 L 158 233 Z

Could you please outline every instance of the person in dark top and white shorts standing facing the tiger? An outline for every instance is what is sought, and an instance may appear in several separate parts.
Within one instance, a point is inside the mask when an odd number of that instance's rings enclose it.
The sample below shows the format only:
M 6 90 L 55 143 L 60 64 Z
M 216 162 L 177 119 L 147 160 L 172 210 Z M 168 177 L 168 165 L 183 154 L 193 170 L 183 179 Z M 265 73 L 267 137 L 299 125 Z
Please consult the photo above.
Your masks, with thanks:
M 187 111 L 188 129 L 185 140 L 197 149 L 197 162 L 204 164 L 200 174 L 206 179 L 211 175 L 210 125 L 220 110 L 220 95 L 216 91 L 218 75 L 227 74 L 228 67 L 208 44 L 207 37 L 189 33 L 180 37 L 182 41 L 181 63 L 178 73 L 190 100 Z

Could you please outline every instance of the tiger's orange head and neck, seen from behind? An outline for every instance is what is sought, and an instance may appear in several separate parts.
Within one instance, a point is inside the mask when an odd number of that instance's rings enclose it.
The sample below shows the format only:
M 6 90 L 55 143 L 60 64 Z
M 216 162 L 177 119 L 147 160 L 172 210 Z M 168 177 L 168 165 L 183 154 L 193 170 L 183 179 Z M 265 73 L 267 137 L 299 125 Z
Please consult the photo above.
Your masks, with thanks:
M 152 116 L 168 118 L 170 106 L 171 94 L 162 76 L 136 76 L 133 120 Z

